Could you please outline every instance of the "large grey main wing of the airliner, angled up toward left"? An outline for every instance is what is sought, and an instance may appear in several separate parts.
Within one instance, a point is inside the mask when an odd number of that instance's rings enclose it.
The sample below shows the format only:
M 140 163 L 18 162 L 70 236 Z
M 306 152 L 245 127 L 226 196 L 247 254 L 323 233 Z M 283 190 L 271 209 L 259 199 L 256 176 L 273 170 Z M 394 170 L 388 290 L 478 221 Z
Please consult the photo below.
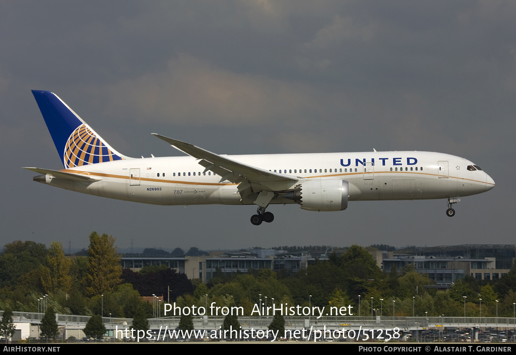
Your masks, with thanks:
M 259 167 L 220 156 L 186 142 L 164 137 L 156 133 L 152 134 L 170 143 L 174 148 L 183 151 L 189 156 L 199 159 L 199 164 L 205 167 L 205 172 L 209 170 L 222 177 L 220 182 L 228 180 L 238 184 L 238 192 L 242 197 L 251 192 L 260 192 L 263 190 L 271 192 L 289 190 L 299 181 L 299 179 L 294 176 L 273 173 Z M 253 191 L 250 190 L 251 187 Z

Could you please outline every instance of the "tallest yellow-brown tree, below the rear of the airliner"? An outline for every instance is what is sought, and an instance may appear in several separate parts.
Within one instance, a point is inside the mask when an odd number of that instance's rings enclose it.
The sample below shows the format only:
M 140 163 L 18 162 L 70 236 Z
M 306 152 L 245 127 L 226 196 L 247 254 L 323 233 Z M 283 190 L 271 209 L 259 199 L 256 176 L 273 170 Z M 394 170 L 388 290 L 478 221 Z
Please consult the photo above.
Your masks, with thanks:
M 115 238 L 107 234 L 90 234 L 86 293 L 90 296 L 112 291 L 121 280 L 122 266 L 115 247 Z

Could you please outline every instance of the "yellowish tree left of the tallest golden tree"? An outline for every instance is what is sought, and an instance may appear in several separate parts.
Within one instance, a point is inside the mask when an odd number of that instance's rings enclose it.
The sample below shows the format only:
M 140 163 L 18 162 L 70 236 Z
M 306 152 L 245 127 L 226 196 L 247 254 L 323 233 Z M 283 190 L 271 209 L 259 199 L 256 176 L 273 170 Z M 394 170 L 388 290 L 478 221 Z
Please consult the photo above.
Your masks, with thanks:
M 48 293 L 63 291 L 67 293 L 72 286 L 70 268 L 72 260 L 65 256 L 61 242 L 52 242 L 46 257 L 49 267 L 42 266 L 41 282 Z

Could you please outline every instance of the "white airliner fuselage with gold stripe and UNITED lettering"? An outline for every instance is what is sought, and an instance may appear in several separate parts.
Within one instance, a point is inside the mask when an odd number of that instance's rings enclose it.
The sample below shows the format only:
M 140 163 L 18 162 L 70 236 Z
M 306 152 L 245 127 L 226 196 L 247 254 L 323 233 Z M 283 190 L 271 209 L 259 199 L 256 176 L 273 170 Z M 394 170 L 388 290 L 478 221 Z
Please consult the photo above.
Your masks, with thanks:
M 494 181 L 464 158 L 423 151 L 224 156 L 302 181 L 333 178 L 349 182 L 349 200 L 434 199 L 467 196 L 494 187 Z M 126 159 L 69 168 L 100 181 L 73 181 L 46 175 L 44 182 L 67 190 L 154 205 L 247 205 L 237 184 L 220 181 L 189 156 Z M 257 191 L 259 192 L 259 191 Z M 271 204 L 295 203 L 277 195 Z

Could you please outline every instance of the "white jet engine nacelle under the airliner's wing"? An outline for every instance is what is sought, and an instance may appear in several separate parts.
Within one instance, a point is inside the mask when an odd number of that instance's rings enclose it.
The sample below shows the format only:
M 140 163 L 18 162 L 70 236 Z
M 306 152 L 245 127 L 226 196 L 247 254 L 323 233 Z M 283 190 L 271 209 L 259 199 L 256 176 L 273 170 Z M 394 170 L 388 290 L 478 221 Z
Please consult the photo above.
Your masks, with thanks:
M 301 208 L 307 211 L 342 211 L 348 207 L 349 183 L 346 180 L 321 178 L 300 185 Z

